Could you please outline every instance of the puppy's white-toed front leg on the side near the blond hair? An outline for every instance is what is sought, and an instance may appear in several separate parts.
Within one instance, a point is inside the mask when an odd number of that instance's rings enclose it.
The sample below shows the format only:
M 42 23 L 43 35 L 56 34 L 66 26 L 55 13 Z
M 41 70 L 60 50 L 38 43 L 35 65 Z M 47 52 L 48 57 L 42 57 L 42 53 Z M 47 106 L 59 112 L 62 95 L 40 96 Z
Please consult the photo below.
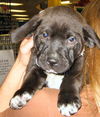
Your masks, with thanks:
M 58 96 L 58 108 L 62 115 L 73 115 L 81 107 L 79 93 L 83 84 L 83 63 L 84 58 L 79 57 L 65 74 Z

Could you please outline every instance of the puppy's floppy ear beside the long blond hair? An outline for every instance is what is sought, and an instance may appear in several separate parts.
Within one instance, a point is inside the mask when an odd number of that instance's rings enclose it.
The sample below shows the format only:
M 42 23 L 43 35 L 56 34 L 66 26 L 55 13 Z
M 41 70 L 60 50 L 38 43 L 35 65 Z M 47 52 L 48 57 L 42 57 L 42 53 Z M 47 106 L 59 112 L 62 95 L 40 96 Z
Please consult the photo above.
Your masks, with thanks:
M 83 34 L 86 46 L 89 48 L 93 48 L 95 46 L 100 48 L 100 39 L 89 25 L 86 25 L 83 28 Z

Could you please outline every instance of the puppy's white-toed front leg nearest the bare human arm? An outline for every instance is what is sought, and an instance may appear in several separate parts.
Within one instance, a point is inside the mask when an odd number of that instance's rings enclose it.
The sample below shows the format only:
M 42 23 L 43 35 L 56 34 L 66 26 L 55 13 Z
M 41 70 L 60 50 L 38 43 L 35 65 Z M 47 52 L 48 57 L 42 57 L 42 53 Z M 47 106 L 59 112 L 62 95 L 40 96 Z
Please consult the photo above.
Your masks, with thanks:
M 10 107 L 21 109 L 32 98 L 36 90 L 41 89 L 45 83 L 46 74 L 42 69 L 33 67 L 25 75 L 25 82 L 10 101 Z

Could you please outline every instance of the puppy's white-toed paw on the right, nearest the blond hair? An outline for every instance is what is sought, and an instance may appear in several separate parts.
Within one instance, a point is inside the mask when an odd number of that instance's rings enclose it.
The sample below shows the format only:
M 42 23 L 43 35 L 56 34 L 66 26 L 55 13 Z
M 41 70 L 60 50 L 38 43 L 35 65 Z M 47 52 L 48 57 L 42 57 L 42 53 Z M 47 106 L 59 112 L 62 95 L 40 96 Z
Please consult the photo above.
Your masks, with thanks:
M 78 112 L 81 107 L 81 101 L 78 98 L 74 98 L 73 100 L 60 100 L 58 102 L 58 108 L 62 115 L 71 116 Z

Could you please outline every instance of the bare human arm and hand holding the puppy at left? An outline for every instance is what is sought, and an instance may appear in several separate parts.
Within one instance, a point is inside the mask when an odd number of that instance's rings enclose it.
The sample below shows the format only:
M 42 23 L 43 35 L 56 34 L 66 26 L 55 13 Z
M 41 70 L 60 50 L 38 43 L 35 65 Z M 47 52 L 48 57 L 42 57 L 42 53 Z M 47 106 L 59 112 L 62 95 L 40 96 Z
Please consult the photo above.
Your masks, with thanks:
M 23 82 L 26 67 L 30 58 L 31 48 L 33 47 L 33 39 L 24 39 L 21 43 L 18 57 L 8 73 L 5 81 L 0 87 L 0 112 L 9 107 L 9 101 L 18 90 Z

